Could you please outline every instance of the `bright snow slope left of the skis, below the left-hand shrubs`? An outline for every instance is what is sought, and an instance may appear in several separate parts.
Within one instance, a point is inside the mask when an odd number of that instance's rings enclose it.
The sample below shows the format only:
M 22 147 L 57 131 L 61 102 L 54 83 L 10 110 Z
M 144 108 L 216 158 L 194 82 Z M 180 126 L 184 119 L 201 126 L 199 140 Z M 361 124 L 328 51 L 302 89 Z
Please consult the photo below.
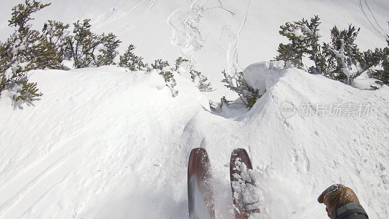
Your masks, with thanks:
M 178 140 L 209 109 L 191 81 L 178 75 L 172 98 L 158 73 L 117 67 L 35 71 L 31 80 L 44 93 L 35 106 L 13 108 L 6 92 L 0 101 L 0 217 L 186 215 L 177 174 L 192 145 Z

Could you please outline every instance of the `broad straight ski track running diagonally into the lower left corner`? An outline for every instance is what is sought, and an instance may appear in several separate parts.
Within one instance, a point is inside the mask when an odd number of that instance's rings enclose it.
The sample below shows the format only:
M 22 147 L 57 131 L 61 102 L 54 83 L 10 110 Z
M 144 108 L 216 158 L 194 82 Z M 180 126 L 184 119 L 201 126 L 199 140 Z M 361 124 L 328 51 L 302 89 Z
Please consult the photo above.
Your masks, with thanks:
M 0 206 L 0 215 L 4 218 L 18 218 L 20 212 L 26 211 L 76 167 L 77 161 L 82 157 L 73 155 L 77 155 L 76 150 L 87 141 L 83 134 L 86 133 L 80 133 L 77 138 L 48 154 L 2 186 L 0 203 L 4 204 Z

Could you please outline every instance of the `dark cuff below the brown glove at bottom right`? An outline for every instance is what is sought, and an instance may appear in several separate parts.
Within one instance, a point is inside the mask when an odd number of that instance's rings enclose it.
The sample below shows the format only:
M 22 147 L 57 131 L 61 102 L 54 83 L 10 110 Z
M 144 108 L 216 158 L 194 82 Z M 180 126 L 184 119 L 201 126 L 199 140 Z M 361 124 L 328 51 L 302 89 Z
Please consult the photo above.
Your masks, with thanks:
M 369 219 L 362 205 L 349 202 L 337 207 L 331 214 L 331 219 Z

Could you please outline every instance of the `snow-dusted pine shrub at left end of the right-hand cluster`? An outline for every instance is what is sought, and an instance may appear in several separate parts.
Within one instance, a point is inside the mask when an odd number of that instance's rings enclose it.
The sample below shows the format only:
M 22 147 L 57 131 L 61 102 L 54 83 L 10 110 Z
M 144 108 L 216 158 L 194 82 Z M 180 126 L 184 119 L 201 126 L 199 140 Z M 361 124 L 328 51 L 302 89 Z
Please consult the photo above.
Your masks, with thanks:
M 315 66 L 309 68 L 311 73 L 321 73 L 325 67 L 325 59 L 319 44 L 318 26 L 320 18 L 315 16 L 310 21 L 302 18 L 300 21 L 286 22 L 280 28 L 280 35 L 287 37 L 288 44 L 280 43 L 275 60 L 285 61 L 286 66 L 294 65 L 303 69 L 302 58 L 308 55 Z

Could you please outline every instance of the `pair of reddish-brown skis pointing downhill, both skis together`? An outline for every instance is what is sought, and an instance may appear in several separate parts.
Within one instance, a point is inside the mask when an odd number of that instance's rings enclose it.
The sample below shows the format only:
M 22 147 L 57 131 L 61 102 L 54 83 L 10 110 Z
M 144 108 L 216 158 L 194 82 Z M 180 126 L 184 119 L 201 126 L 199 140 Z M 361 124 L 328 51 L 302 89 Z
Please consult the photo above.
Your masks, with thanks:
M 230 181 L 236 219 L 248 219 L 250 214 L 259 213 L 255 203 L 244 200 L 244 190 L 255 186 L 248 176 L 252 169 L 248 153 L 243 148 L 232 151 L 230 158 Z M 188 205 L 190 219 L 214 219 L 211 165 L 204 148 L 194 148 L 188 163 Z

